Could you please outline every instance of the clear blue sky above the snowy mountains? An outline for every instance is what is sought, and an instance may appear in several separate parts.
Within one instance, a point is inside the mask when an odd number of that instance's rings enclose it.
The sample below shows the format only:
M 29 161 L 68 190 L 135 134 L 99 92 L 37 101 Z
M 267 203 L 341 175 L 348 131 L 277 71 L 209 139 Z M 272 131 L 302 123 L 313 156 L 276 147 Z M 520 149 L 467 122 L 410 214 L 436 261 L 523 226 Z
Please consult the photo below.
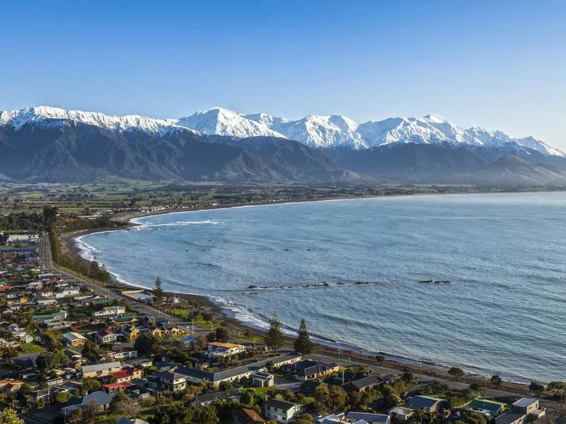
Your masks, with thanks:
M 566 1 L 5 1 L 0 110 L 444 115 L 566 148 Z

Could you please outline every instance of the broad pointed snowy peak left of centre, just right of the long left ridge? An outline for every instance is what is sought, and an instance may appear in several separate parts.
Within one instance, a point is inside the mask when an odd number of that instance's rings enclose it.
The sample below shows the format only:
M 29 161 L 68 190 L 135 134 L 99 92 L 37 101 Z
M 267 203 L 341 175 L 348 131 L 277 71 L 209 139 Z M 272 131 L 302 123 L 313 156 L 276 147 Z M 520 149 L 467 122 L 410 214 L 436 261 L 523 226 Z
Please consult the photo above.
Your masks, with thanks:
M 196 112 L 190 117 L 180 118 L 175 124 L 195 129 L 202 134 L 216 134 L 238 138 L 271 136 L 283 137 L 262 122 L 247 119 L 243 115 L 222 107 L 213 107 L 204 112 Z

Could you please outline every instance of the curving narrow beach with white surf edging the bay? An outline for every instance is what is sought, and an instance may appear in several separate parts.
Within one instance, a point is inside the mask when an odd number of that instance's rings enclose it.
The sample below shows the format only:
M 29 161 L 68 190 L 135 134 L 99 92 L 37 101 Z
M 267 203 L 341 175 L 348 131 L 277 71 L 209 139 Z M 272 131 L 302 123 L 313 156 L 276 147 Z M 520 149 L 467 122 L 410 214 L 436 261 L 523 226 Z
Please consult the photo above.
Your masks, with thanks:
M 482 194 L 480 192 L 475 193 L 454 193 L 456 194 Z M 490 193 L 490 194 L 502 194 L 502 192 L 498 193 Z M 441 194 L 407 194 L 407 195 L 392 195 L 395 197 L 405 196 L 405 197 L 412 197 L 412 196 L 436 196 Z M 142 223 L 135 222 L 138 218 L 144 218 L 146 216 L 154 216 L 154 215 L 161 215 L 161 214 L 173 214 L 173 213 L 183 213 L 183 212 L 191 212 L 191 211 L 202 211 L 202 210 L 210 210 L 216 208 L 234 208 L 234 207 L 250 207 L 250 206 L 268 206 L 270 204 L 293 204 L 293 203 L 303 203 L 303 202 L 314 202 L 314 201 L 338 201 L 338 200 L 354 200 L 354 199 L 376 199 L 385 196 L 364 196 L 364 197 L 347 197 L 347 198 L 335 198 L 335 199 L 302 199 L 297 201 L 280 201 L 280 202 L 263 202 L 258 204 L 226 204 L 226 205 L 215 205 L 210 207 L 203 207 L 203 208 L 190 208 L 190 209 L 181 209 L 181 210 L 168 210 L 168 211 L 157 211 L 157 212 L 148 212 L 148 213 L 127 213 L 123 216 L 120 216 L 118 219 L 119 222 L 123 223 L 124 225 L 120 228 L 112 228 L 112 229 L 97 229 L 97 230 L 81 230 L 76 232 L 69 232 L 62 234 L 62 246 L 67 252 L 71 252 L 72 254 L 78 254 L 79 256 L 83 257 L 83 253 L 85 250 L 81 250 L 78 244 L 81 242 L 81 238 L 88 234 L 94 232 L 105 232 L 105 231 L 115 231 L 115 230 L 129 230 L 130 228 L 137 227 L 138 225 L 143 225 Z M 388 196 L 391 197 L 391 196 Z M 77 242 L 78 240 L 78 242 Z M 86 259 L 86 258 L 84 258 Z M 136 285 L 129 283 L 127 281 L 120 280 L 120 276 L 116 276 L 115 281 L 117 285 L 121 285 L 122 287 L 127 288 L 144 288 L 146 290 L 151 290 L 151 288 L 147 288 L 141 285 Z M 261 326 L 261 324 L 265 324 L 265 321 L 262 319 L 257 319 L 257 323 L 250 322 L 244 319 L 238 319 L 238 314 L 236 310 L 241 310 L 243 313 L 248 311 L 243 310 L 243 308 L 238 307 L 235 305 L 231 307 L 229 304 L 230 302 L 220 298 L 216 295 L 201 295 L 201 294 L 194 294 L 194 293 L 178 293 L 178 292 L 171 292 L 167 291 L 167 293 L 179 295 L 185 299 L 189 300 L 197 300 L 200 303 L 204 303 L 207 305 L 207 308 L 213 310 L 213 313 L 218 317 L 221 322 L 227 322 L 233 329 L 243 329 L 244 331 L 253 331 L 258 334 L 265 334 L 265 325 Z M 253 317 L 253 314 L 252 314 Z M 289 339 L 289 335 L 292 334 L 289 329 L 285 329 L 285 333 L 287 339 Z M 330 338 L 325 338 L 321 336 L 317 336 L 316 334 L 312 334 L 313 342 L 316 343 L 316 351 L 318 353 L 324 353 L 327 355 L 332 355 L 335 358 L 352 358 L 355 360 L 360 360 L 365 363 L 376 364 L 375 355 L 383 355 L 386 357 L 386 360 L 383 362 L 383 366 L 391 367 L 395 370 L 411 370 L 412 372 L 422 372 L 423 375 L 429 375 L 431 377 L 438 377 L 442 379 L 450 378 L 447 370 L 448 367 L 444 365 L 439 365 L 432 361 L 426 360 L 416 360 L 409 357 L 405 357 L 403 355 L 396 355 L 392 353 L 383 353 L 383 352 L 373 352 L 367 349 L 364 349 L 360 346 L 353 346 L 348 343 L 343 343 L 339 341 L 333 341 Z M 341 353 L 343 353 L 341 355 Z M 463 381 L 471 381 L 471 382 L 480 382 L 483 384 L 484 379 L 483 376 L 478 374 L 470 373 L 463 377 Z M 490 387 L 492 387 L 490 385 Z M 515 391 L 520 391 L 521 393 L 529 394 L 530 392 L 526 388 L 526 384 L 523 382 L 511 382 L 506 381 L 502 384 L 501 387 L 513 389 Z

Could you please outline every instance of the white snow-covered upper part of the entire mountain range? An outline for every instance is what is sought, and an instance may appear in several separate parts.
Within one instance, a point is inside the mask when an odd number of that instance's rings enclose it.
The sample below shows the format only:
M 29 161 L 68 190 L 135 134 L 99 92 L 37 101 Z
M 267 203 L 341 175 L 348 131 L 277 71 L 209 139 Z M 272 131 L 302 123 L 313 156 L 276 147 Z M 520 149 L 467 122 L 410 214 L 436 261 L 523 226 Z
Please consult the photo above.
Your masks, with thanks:
M 439 115 L 421 118 L 393 117 L 358 124 L 342 115 L 309 115 L 293 121 L 265 113 L 244 116 L 221 107 L 179 119 L 153 119 L 138 115 L 114 117 L 100 112 L 46 106 L 0 112 L 0 126 L 7 125 L 14 129 L 19 129 L 27 123 L 58 125 L 63 120 L 95 125 L 112 131 L 139 129 L 158 136 L 185 128 L 197 134 L 216 134 L 240 139 L 254 136 L 280 137 L 299 141 L 313 148 L 359 150 L 414 143 L 447 147 L 511 148 L 527 154 L 529 151 L 537 151 L 546 156 L 566 157 L 562 151 L 533 137 L 514 138 L 501 131 L 488 131 L 478 126 L 463 129 Z

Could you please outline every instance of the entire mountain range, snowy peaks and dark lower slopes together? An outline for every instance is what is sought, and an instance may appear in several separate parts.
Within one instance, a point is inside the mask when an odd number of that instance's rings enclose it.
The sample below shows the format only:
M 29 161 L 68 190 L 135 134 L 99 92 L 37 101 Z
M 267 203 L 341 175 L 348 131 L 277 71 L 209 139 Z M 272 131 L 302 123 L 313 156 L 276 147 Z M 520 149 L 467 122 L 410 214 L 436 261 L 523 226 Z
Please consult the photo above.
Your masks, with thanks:
M 178 119 L 29 107 L 0 112 L 0 180 L 566 182 L 566 155 L 533 137 L 463 129 L 438 115 L 362 124 L 221 107 Z

